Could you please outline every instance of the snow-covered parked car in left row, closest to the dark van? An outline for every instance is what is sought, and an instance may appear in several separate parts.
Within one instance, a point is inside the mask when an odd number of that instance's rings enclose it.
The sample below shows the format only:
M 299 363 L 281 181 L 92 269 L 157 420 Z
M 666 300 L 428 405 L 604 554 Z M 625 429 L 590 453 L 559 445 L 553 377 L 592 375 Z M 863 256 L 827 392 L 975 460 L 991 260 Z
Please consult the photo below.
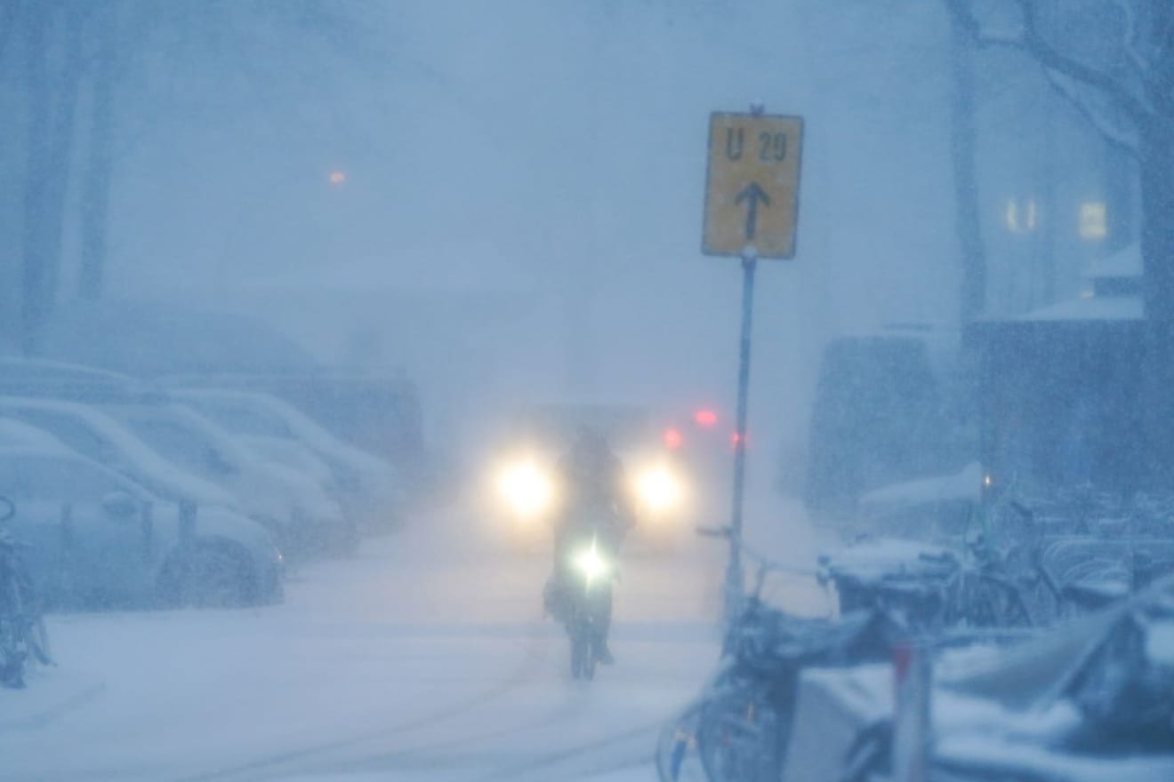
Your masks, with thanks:
M 234 434 L 292 441 L 308 448 L 329 465 L 339 499 L 362 526 L 386 528 L 400 521 L 405 488 L 396 468 L 344 443 L 292 404 L 251 392 L 175 389 L 170 393 Z

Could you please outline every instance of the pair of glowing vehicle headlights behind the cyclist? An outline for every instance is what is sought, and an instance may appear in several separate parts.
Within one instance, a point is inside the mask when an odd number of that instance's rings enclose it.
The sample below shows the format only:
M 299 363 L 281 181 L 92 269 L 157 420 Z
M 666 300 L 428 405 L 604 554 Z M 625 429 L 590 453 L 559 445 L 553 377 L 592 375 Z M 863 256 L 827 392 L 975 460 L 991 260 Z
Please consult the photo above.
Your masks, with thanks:
M 494 489 L 506 509 L 522 519 L 551 514 L 558 503 L 554 475 L 533 458 L 500 468 Z M 637 470 L 630 489 L 640 509 L 654 516 L 672 514 L 684 503 L 684 481 L 666 464 Z

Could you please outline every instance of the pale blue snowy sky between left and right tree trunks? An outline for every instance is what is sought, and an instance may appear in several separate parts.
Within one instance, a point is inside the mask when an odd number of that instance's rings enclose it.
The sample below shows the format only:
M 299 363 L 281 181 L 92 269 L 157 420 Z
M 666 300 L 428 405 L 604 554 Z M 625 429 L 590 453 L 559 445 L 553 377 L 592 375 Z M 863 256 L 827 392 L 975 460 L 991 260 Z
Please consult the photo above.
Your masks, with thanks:
M 328 360 L 375 335 L 441 417 L 527 393 L 731 409 L 740 274 L 700 254 L 707 115 L 762 100 L 807 120 L 753 396 L 797 442 L 828 336 L 954 312 L 944 14 L 884 5 L 356 5 L 387 12 L 386 60 L 141 134 L 113 279 L 256 310 Z

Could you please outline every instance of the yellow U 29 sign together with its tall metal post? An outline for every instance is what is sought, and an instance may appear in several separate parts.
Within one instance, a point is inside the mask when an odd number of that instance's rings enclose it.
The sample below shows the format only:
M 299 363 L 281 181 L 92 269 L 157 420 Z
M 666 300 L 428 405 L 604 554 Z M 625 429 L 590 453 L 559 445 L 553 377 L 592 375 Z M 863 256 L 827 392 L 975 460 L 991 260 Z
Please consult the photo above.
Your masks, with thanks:
M 802 117 L 715 111 L 709 117 L 709 168 L 702 252 L 742 259 L 742 331 L 738 345 L 737 421 L 734 430 L 734 497 L 730 558 L 723 610 L 731 621 L 742 605 L 742 501 L 745 488 L 747 415 L 754 272 L 760 258 L 794 258 L 798 218 Z

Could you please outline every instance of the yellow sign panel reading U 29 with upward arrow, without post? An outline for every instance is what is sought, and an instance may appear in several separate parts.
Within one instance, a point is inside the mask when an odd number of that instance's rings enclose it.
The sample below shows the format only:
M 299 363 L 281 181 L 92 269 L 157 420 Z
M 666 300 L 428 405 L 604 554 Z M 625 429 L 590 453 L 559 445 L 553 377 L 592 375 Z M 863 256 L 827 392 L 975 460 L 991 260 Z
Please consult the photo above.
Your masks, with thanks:
M 707 256 L 795 256 L 802 143 L 802 117 L 709 115 Z

